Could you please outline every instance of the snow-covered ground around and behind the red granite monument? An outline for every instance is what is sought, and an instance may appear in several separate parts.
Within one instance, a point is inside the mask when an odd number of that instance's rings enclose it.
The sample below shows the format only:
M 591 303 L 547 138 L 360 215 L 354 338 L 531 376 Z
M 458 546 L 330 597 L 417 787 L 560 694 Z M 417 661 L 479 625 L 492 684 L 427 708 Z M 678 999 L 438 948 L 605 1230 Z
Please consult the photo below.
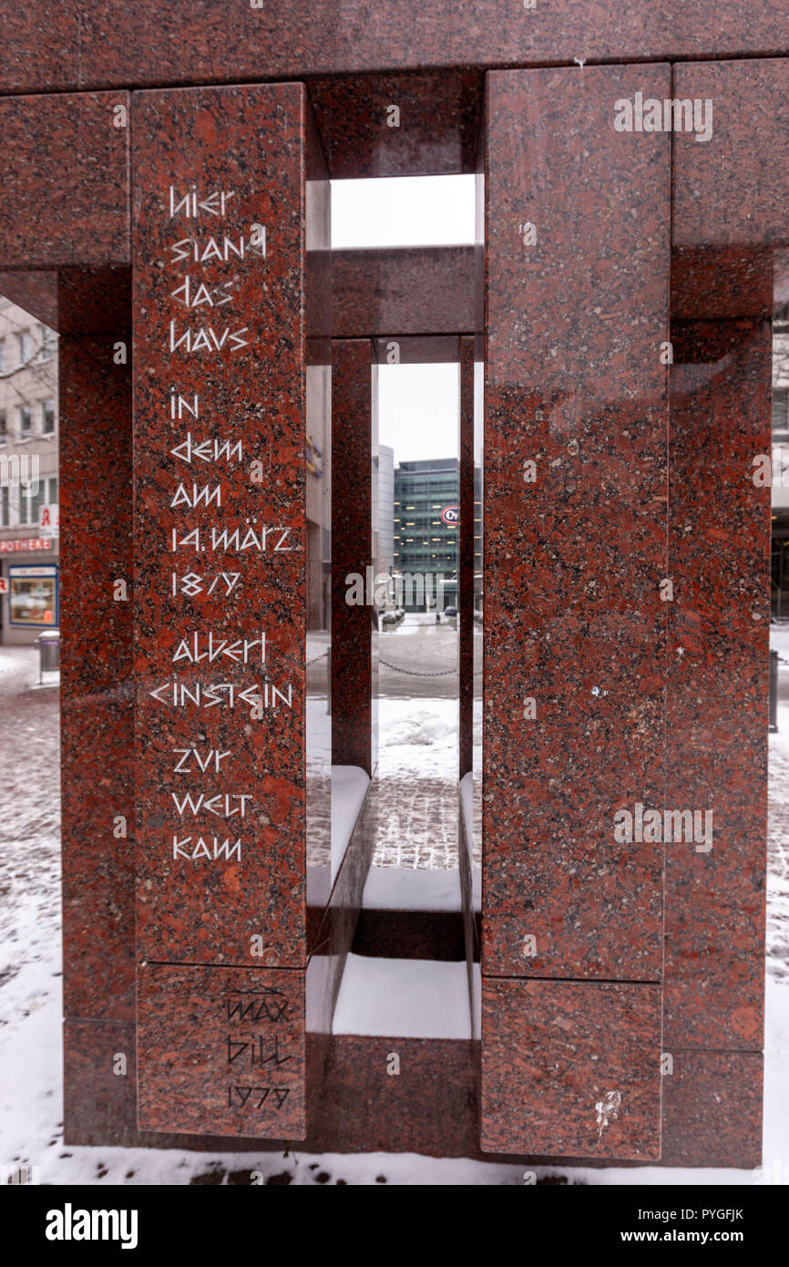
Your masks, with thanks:
M 764 1163 L 770 1178 L 778 1159 L 779 1171 L 783 1168 L 789 1180 L 789 634 L 785 659 L 781 696 L 786 696 L 786 703 L 779 710 L 779 732 L 770 736 Z M 303 1152 L 282 1156 L 63 1147 L 58 693 L 29 689 L 37 682 L 34 651 L 0 647 L 5 792 L 0 818 L 0 1086 L 5 1092 L 0 1104 L 0 1164 L 35 1166 L 42 1183 L 65 1185 L 246 1185 L 255 1171 L 271 1185 L 522 1185 L 521 1166 L 413 1154 L 313 1157 Z M 393 798 L 407 780 L 413 783 L 417 774 L 424 778 L 428 770 L 436 787 L 453 783 L 456 708 L 448 699 L 381 701 L 381 769 L 390 777 Z M 426 832 L 431 827 L 429 812 L 428 806 L 422 825 Z M 452 812 L 456 816 L 456 784 Z M 404 816 L 400 837 L 405 825 Z M 540 1167 L 537 1176 L 589 1185 L 755 1182 L 747 1171 L 662 1167 Z

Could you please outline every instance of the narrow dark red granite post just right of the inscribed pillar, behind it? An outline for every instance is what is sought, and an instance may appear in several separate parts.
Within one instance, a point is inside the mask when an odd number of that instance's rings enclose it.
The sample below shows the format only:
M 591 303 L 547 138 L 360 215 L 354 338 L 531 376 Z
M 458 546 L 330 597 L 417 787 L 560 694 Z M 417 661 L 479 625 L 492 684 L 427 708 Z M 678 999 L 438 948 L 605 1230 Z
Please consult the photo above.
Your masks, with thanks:
M 367 573 L 374 569 L 371 361 L 370 340 L 332 342 L 332 764 L 357 765 L 370 775 L 377 761 L 372 672 L 379 609 L 367 606 L 375 598 L 375 573 L 371 584 Z M 361 578 L 363 603 L 347 602 L 348 576 Z

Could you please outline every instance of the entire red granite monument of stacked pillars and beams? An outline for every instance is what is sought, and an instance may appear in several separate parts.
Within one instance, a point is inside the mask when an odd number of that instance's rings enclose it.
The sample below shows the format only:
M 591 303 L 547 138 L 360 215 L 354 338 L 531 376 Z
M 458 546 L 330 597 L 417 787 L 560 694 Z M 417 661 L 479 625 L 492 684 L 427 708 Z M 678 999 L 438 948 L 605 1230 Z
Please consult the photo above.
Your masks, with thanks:
M 760 1163 L 788 18 L 6 9 L 0 293 L 61 334 L 67 1143 Z M 331 250 L 329 179 L 470 172 L 476 247 Z M 332 1024 L 391 341 L 461 367 L 461 777 L 485 380 L 467 1039 Z M 338 855 L 332 767 L 370 779 Z

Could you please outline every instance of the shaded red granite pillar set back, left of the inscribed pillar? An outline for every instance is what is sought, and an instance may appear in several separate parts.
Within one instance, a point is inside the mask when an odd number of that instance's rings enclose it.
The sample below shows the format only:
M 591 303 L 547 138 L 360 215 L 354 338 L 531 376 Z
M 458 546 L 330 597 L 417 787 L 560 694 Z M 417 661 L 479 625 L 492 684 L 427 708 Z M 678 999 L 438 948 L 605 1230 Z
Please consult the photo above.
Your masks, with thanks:
M 56 286 L 66 1143 L 120 1142 L 134 1102 L 129 281 Z

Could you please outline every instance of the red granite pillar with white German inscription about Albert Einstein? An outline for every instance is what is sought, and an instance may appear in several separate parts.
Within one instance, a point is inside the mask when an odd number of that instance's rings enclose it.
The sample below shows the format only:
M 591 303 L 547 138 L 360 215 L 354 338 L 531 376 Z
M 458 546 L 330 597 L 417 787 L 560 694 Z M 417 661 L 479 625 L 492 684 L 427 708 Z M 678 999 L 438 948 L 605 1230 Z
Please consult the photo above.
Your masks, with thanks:
M 138 1123 L 295 1139 L 329 791 L 305 231 L 328 208 L 298 84 L 139 94 L 134 117 Z

